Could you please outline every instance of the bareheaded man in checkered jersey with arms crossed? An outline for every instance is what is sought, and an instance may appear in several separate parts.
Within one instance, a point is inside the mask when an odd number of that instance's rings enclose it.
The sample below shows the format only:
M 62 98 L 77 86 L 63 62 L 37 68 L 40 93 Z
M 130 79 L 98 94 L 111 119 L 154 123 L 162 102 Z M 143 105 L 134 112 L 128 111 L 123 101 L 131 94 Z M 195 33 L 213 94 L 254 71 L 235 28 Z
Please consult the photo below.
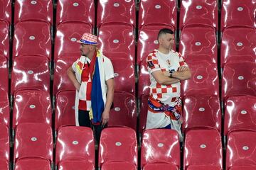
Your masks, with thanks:
M 158 34 L 159 48 L 146 57 L 150 74 L 149 108 L 146 129 L 169 128 L 181 134 L 181 81 L 190 79 L 191 72 L 174 48 L 174 32 L 167 28 Z

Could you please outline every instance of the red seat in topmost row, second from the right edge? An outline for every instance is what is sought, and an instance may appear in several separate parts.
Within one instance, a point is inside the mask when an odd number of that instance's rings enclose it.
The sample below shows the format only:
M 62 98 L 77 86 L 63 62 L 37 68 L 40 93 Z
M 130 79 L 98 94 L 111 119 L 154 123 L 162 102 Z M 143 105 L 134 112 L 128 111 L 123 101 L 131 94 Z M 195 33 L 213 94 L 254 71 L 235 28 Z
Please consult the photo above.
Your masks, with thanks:
M 218 29 L 218 1 L 182 0 L 180 11 L 180 29 L 188 25 L 203 24 Z

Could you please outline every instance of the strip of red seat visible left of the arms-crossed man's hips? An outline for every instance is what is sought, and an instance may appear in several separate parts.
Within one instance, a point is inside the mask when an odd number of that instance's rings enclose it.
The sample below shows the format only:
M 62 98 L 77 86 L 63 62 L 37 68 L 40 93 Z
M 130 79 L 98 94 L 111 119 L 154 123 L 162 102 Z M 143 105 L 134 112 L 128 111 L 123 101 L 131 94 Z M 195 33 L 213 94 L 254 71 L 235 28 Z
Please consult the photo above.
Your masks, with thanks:
M 142 133 L 143 130 L 146 128 L 146 116 L 148 111 L 148 100 L 149 95 L 142 95 L 140 98 L 140 104 L 139 104 L 139 132 Z

